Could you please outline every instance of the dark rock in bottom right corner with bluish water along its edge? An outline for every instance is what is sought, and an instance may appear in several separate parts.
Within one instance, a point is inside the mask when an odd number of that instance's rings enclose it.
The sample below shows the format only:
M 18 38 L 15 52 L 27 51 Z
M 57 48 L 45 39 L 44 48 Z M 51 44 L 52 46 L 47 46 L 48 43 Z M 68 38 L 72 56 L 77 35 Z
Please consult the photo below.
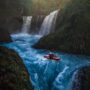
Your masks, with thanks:
M 75 74 L 72 90 L 90 89 L 90 67 L 83 67 Z

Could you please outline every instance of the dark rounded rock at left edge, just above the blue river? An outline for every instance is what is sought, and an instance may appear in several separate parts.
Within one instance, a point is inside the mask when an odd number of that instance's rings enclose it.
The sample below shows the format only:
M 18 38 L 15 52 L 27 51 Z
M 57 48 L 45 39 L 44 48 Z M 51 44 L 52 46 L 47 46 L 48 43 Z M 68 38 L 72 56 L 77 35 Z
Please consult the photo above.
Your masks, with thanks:
M 11 42 L 10 34 L 7 30 L 0 28 L 0 42 Z

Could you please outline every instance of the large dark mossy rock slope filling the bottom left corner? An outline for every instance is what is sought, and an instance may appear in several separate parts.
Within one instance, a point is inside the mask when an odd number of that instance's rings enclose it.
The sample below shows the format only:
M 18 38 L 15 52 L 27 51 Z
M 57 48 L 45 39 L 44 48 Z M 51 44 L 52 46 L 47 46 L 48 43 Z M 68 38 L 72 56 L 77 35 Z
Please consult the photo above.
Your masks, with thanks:
M 0 46 L 0 90 L 33 90 L 22 59 L 3 46 Z

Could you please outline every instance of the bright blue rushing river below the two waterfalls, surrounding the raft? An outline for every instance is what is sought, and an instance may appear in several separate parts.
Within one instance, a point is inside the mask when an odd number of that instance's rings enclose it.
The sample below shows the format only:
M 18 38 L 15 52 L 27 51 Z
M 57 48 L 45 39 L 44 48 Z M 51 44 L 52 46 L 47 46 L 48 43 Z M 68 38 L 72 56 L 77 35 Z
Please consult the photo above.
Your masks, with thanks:
M 61 58 L 53 61 L 44 58 L 48 50 L 37 50 L 32 45 L 40 36 L 12 35 L 13 42 L 4 46 L 16 50 L 26 65 L 34 90 L 72 90 L 73 74 L 83 66 L 90 66 L 90 57 L 52 52 Z

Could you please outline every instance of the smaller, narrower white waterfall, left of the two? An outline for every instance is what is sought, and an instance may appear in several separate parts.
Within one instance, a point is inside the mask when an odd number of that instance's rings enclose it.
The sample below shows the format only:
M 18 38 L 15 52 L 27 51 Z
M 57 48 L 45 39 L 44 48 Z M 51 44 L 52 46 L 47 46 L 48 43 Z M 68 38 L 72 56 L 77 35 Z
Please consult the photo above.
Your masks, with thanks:
M 22 33 L 28 33 L 31 26 L 32 16 L 23 16 Z

